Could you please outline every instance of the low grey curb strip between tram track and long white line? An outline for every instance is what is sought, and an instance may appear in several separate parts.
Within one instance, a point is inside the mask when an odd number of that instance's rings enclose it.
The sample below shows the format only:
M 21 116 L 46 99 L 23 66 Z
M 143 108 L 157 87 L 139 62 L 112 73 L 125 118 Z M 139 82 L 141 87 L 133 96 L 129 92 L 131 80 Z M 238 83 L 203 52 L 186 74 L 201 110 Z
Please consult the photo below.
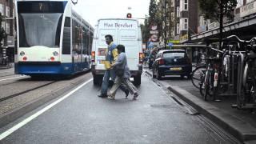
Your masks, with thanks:
M 70 82 L 69 86 L 54 90 L 50 94 L 44 94 L 42 95 L 42 97 L 35 99 L 34 101 L 28 102 L 25 106 L 17 107 L 14 110 L 10 110 L 9 112 L 2 114 L 0 116 L 0 127 L 6 126 L 10 122 L 14 122 L 16 119 L 22 117 L 24 114 L 27 114 L 30 111 L 37 109 L 39 106 L 46 104 L 46 102 L 50 102 L 54 98 L 60 97 L 62 94 L 65 94 L 66 92 L 74 89 L 75 86 L 78 86 L 82 82 L 85 82 L 85 79 L 79 79 L 78 81 Z

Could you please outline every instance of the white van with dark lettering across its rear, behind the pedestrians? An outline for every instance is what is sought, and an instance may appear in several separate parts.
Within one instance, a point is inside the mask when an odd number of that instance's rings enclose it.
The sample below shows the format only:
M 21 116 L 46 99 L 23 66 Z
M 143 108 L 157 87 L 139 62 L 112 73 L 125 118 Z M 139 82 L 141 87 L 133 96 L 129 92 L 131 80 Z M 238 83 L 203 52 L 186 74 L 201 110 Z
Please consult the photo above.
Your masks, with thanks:
M 92 46 L 91 71 L 94 75 L 94 84 L 100 84 L 105 73 L 106 41 L 105 35 L 111 34 L 116 45 L 126 46 L 127 64 L 130 68 L 134 85 L 141 84 L 142 75 L 142 31 L 138 20 L 133 18 L 106 18 L 99 19 L 94 31 Z

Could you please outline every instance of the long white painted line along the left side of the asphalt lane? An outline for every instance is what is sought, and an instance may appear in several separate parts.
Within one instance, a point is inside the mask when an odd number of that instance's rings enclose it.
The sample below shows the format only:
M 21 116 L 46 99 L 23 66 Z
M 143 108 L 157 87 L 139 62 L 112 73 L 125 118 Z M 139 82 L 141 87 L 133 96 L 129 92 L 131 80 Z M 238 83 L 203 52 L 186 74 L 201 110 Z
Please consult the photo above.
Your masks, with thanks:
M 49 110 L 51 107 L 55 106 L 58 104 L 58 102 L 62 102 L 64 99 L 70 97 L 71 94 L 74 94 L 74 92 L 76 92 L 77 90 L 79 90 L 80 88 L 82 88 L 82 86 L 85 86 L 87 83 L 91 82 L 93 80 L 93 78 L 90 78 L 90 80 L 88 80 L 87 82 L 82 83 L 82 85 L 78 86 L 77 88 L 75 88 L 74 90 L 70 91 L 70 93 L 66 94 L 64 97 L 59 98 L 57 101 L 51 103 L 50 105 L 46 106 L 45 108 L 43 108 L 42 110 L 39 110 L 37 113 L 31 115 L 29 118 L 26 118 L 25 120 L 23 120 L 22 122 L 19 122 L 17 125 L 13 126 L 12 128 L 10 128 L 9 130 L 6 130 L 5 132 L 3 132 L 2 134 L 0 134 L 0 141 L 3 138 L 6 138 L 8 135 L 14 133 L 14 131 L 18 130 L 19 128 L 21 128 L 22 126 L 26 125 L 28 122 L 32 121 L 34 118 L 37 118 L 40 114 L 43 114 L 44 112 L 46 112 L 46 110 Z

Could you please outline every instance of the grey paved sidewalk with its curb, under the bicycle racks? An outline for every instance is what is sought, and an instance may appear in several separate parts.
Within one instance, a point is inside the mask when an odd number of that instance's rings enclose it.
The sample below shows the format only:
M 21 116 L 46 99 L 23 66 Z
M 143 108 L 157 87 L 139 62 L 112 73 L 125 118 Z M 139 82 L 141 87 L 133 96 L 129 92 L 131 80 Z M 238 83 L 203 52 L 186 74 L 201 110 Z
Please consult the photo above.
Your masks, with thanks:
M 144 68 L 147 74 L 151 70 Z M 256 114 L 249 110 L 231 108 L 236 98 L 223 98 L 222 102 L 204 101 L 200 92 L 190 80 L 180 78 L 163 78 L 159 81 L 183 101 L 193 106 L 200 114 L 205 115 L 230 134 L 245 143 L 256 143 Z

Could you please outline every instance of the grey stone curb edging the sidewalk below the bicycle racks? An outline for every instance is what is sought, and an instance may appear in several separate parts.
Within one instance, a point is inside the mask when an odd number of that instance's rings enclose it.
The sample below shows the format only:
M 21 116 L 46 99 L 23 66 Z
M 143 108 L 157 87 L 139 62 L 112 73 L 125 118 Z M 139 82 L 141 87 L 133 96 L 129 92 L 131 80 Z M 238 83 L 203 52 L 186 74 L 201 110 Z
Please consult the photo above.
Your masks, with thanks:
M 178 95 L 179 98 L 182 98 L 182 100 L 187 102 L 190 106 L 193 106 L 199 113 L 217 123 L 218 126 L 221 126 L 235 138 L 238 138 L 238 140 L 242 142 L 249 141 L 248 143 L 250 143 L 250 141 L 255 142 L 252 141 L 256 140 L 256 128 L 254 128 L 254 126 L 223 112 L 210 103 L 203 102 L 202 99 L 197 98 L 179 86 L 168 86 L 167 89 Z

